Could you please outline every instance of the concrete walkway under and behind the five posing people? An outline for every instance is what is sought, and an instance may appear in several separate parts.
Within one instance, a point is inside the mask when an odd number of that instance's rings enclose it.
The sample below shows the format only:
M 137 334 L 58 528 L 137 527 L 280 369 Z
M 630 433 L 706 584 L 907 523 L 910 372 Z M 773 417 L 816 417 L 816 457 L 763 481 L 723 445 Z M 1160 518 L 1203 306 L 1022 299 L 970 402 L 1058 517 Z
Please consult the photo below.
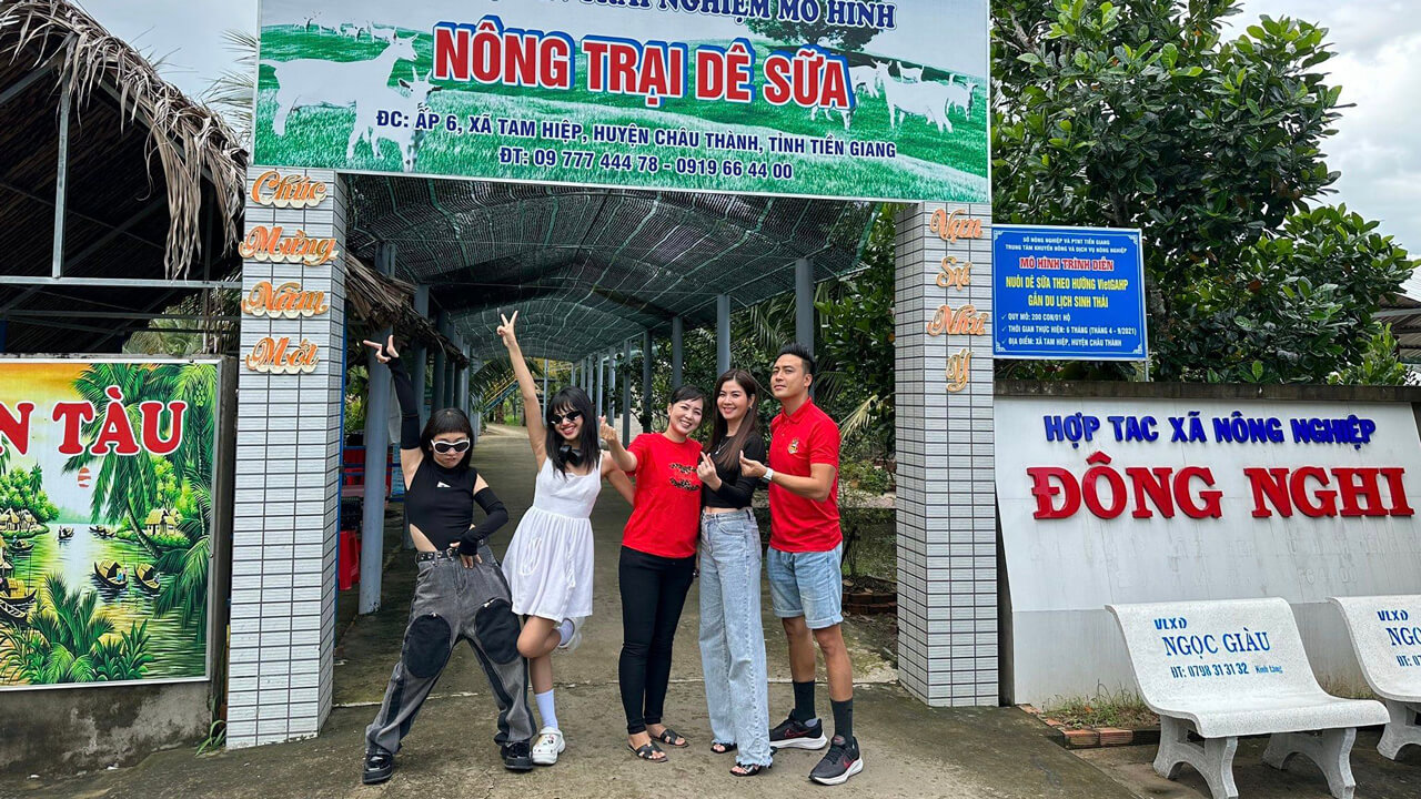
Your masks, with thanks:
M 513 520 L 493 542 L 503 552 L 533 498 L 533 456 L 519 428 L 493 428 L 475 463 L 510 508 Z M 195 758 L 190 749 L 156 754 L 141 765 L 63 782 L 0 782 L 0 796 L 134 796 L 141 799 L 364 798 L 364 796 L 784 796 L 830 790 L 807 782 L 823 752 L 789 751 L 753 779 L 728 773 L 732 756 L 713 755 L 696 648 L 696 594 L 676 637 L 666 722 L 691 739 L 668 748 L 668 763 L 645 763 L 625 749 L 617 690 L 621 603 L 617 554 L 627 503 L 605 488 L 593 515 L 597 535 L 595 616 L 580 650 L 554 661 L 558 719 L 568 749 L 557 766 L 527 775 L 503 771 L 493 745 L 495 705 L 468 647 L 456 650 L 399 754 L 394 779 L 360 785 L 364 726 L 374 717 L 399 657 L 414 581 L 412 559 L 396 553 L 385 573 L 382 608 L 344 631 L 335 668 L 335 709 L 308 741 Z M 398 515 L 398 508 L 396 508 Z M 395 516 L 387 540 L 398 539 Z M 342 596 L 352 603 L 352 596 Z M 764 597 L 773 722 L 789 711 L 791 691 L 784 638 Z M 858 690 L 855 729 L 864 772 L 843 790 L 870 796 L 1128 798 L 1094 766 L 1053 744 L 1043 725 L 1016 709 L 934 709 L 897 685 L 884 653 L 845 626 Z M 820 682 L 820 712 L 828 698 Z

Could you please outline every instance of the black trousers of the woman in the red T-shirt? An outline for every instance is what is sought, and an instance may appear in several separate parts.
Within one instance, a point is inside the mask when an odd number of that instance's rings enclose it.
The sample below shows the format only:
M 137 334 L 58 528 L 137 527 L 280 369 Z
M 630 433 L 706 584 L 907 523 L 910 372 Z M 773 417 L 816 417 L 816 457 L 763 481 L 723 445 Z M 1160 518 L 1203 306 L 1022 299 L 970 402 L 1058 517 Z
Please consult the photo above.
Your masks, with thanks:
M 659 557 L 622 547 L 622 651 L 617 661 L 627 734 L 661 724 L 671 682 L 671 643 L 695 579 L 696 557 Z

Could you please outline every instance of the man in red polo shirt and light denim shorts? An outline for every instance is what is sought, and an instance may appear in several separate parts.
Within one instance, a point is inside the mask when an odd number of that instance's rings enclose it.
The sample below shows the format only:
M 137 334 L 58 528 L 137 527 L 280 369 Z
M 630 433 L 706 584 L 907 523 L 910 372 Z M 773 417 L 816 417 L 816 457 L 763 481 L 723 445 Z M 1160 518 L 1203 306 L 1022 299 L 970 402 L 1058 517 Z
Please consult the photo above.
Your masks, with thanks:
M 841 785 L 864 768 L 854 738 L 854 667 L 844 647 L 844 583 L 838 527 L 838 425 L 809 395 L 814 355 L 803 344 L 780 350 L 770 392 L 780 412 L 770 422 L 769 466 L 740 456 L 740 473 L 770 483 L 770 550 L 766 573 L 774 616 L 790 644 L 794 709 L 770 731 L 772 748 L 820 749 L 824 725 L 814 712 L 814 644 L 824 653 L 834 739 L 810 772 L 823 785 Z

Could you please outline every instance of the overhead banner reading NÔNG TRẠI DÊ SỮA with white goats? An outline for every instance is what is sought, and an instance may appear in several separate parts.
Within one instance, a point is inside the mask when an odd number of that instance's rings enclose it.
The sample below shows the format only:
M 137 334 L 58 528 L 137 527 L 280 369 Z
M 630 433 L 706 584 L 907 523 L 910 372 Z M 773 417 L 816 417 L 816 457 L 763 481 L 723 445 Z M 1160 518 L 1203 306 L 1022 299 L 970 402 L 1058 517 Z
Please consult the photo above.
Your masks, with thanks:
M 986 0 L 261 0 L 254 162 L 988 200 Z

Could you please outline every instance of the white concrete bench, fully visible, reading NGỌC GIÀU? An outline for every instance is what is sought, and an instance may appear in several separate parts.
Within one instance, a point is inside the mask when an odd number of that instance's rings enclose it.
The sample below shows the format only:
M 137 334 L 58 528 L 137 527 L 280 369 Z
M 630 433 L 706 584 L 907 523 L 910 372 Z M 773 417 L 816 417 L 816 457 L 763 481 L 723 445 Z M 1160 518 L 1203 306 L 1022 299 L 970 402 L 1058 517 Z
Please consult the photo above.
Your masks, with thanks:
M 1351 799 L 1357 728 L 1387 721 L 1378 702 L 1340 699 L 1307 665 L 1282 599 L 1106 606 L 1120 623 L 1140 695 L 1160 714 L 1154 768 L 1174 779 L 1188 763 L 1214 799 L 1235 799 L 1233 754 L 1243 735 L 1270 735 L 1263 762 L 1306 755 L 1337 799 Z M 1204 739 L 1189 739 L 1189 732 Z

